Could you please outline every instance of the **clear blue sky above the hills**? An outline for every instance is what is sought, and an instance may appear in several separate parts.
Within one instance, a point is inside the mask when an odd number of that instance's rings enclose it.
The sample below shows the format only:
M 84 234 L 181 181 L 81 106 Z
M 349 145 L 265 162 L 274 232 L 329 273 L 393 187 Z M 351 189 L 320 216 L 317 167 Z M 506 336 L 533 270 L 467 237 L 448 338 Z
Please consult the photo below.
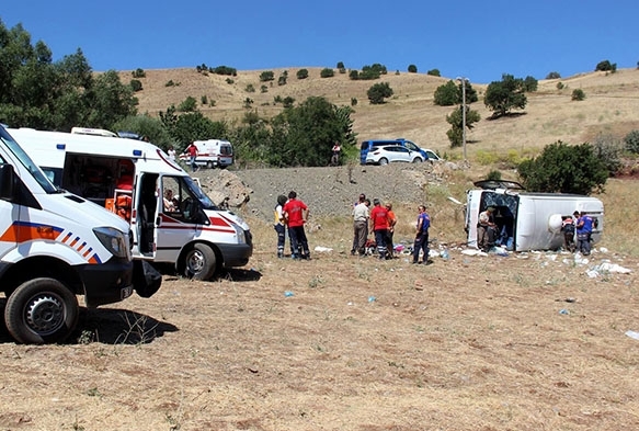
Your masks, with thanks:
M 544 79 L 639 61 L 639 1 L 10 0 L 0 19 L 54 59 L 82 49 L 96 71 L 229 66 L 238 70 L 415 65 L 471 82 Z

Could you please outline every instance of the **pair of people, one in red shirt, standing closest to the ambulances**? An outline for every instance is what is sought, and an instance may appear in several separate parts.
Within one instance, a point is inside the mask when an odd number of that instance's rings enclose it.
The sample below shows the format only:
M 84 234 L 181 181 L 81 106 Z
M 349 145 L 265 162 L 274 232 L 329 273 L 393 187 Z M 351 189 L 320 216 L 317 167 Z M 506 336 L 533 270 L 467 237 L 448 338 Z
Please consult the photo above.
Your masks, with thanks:
M 308 206 L 299 199 L 297 193 L 290 191 L 288 197 L 281 194 L 277 196 L 275 205 L 274 228 L 277 232 L 277 257 L 284 258 L 284 247 L 286 243 L 286 230 L 290 242 L 290 257 L 293 259 L 310 260 L 310 250 L 304 225 L 308 220 Z

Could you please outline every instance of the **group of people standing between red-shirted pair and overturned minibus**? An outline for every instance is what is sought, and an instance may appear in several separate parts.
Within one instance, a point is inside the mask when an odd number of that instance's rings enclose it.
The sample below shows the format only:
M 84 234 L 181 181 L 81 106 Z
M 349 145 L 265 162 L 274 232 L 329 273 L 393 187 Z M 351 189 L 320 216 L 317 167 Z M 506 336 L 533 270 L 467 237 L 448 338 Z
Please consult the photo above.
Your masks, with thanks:
M 365 194 L 361 194 L 357 203 L 353 207 L 353 247 L 352 256 L 366 256 L 366 243 L 368 234 L 375 236 L 375 247 L 380 260 L 395 258 L 393 234 L 397 226 L 397 216 L 392 211 L 392 204 L 381 205 L 378 199 L 373 200 L 373 209 L 369 209 L 370 201 Z M 417 222 L 417 234 L 413 245 L 412 263 L 420 263 L 420 253 L 423 252 L 422 262 L 432 263 L 429 260 L 429 228 L 431 217 L 426 213 L 426 207 L 420 205 Z

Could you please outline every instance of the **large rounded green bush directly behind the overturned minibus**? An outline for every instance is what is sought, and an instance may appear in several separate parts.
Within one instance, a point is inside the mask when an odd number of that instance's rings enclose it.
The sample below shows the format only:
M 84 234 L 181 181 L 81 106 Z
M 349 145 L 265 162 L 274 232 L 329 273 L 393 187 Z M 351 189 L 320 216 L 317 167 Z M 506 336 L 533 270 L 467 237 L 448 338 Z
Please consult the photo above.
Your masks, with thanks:
M 593 147 L 569 146 L 561 140 L 546 146 L 541 155 L 518 166 L 523 185 L 530 192 L 591 194 L 603 191 L 608 170 Z

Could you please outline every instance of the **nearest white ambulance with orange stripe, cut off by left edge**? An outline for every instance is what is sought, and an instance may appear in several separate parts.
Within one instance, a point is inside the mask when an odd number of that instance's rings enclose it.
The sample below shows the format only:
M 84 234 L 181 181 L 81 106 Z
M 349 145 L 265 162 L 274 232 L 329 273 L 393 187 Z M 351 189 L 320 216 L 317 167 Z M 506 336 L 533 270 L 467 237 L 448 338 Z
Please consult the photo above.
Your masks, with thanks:
M 64 341 L 78 321 L 76 295 L 87 307 L 117 303 L 133 294 L 133 277 L 128 224 L 53 185 L 0 126 L 0 291 L 9 333 L 21 343 Z

